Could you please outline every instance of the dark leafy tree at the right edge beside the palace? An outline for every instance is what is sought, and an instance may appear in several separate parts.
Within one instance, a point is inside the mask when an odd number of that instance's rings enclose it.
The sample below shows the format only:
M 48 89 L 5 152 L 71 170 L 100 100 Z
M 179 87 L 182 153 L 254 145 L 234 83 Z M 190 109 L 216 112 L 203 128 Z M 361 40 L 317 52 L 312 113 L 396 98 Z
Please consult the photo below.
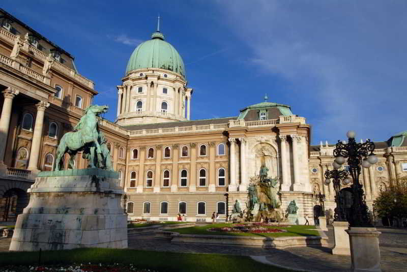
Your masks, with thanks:
M 381 191 L 373 201 L 373 207 L 379 217 L 405 218 L 407 217 L 407 179 L 400 178 L 387 190 Z

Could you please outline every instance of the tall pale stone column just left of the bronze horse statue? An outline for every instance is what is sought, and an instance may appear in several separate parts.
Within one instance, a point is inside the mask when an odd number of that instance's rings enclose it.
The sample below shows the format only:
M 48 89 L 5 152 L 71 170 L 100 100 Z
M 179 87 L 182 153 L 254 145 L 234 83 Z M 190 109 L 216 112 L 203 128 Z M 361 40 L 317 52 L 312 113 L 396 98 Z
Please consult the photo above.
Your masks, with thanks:
M 35 126 L 33 133 L 33 141 L 31 143 L 30 162 L 28 162 L 28 170 L 38 171 L 38 159 L 40 157 L 40 147 L 42 139 L 42 128 L 44 122 L 45 109 L 49 107 L 49 103 L 41 101 L 37 103 L 37 116 L 35 118 Z

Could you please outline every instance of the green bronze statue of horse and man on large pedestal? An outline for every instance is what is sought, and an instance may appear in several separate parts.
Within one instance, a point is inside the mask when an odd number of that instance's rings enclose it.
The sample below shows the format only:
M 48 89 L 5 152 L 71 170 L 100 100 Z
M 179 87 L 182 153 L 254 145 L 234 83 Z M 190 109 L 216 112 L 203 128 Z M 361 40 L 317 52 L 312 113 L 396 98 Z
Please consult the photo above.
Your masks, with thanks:
M 74 131 L 66 133 L 61 138 L 56 150 L 55 171 L 61 170 L 62 158 L 66 153 L 70 156 L 69 168 L 75 168 L 73 163 L 75 155 L 81 151 L 83 151 L 83 158 L 89 161 L 88 167 L 112 170 L 110 158 L 107 158 L 110 154 L 106 150 L 106 140 L 103 134 L 100 135 L 98 127 L 99 115 L 107 112 L 108 109 L 107 105 L 91 105 L 83 111 L 84 115 L 74 127 Z

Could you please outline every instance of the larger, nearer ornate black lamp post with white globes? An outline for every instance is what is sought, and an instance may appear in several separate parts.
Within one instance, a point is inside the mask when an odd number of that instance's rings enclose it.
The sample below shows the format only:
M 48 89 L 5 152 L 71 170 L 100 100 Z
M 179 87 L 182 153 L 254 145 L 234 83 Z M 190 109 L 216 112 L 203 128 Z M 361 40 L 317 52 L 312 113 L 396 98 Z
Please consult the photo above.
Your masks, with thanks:
M 349 172 L 353 178 L 351 186 L 353 191 L 353 204 L 351 206 L 351 218 L 347 218 L 351 227 L 372 227 L 367 213 L 367 205 L 365 196 L 363 194 L 362 185 L 359 183 L 359 175 L 361 166 L 369 168 L 372 164 L 377 162 L 377 157 L 374 156 L 374 143 L 370 139 L 364 143 L 357 143 L 355 141 L 355 132 L 348 131 L 346 133 L 348 142 L 338 141 L 334 149 L 335 162 L 333 166 L 335 169 L 341 167 L 347 158 L 349 165 Z

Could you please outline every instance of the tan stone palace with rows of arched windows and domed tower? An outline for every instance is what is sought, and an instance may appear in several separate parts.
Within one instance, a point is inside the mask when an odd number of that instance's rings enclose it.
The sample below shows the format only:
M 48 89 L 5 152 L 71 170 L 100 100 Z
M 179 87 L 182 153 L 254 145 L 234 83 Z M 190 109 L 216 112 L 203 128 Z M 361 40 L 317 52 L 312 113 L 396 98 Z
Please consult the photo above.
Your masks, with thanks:
M 59 139 L 98 92 L 62 47 L 2 9 L 0 26 L 0 220 L 13 221 L 38 172 L 53 170 Z M 186 67 L 159 31 L 135 48 L 125 71 L 117 119 L 101 119 L 99 127 L 130 219 L 176 220 L 180 213 L 210 221 L 215 211 L 226 220 L 236 200 L 246 209 L 262 165 L 279 179 L 281 209 L 296 200 L 300 224 L 317 212 L 316 193 L 325 194 L 325 209 L 335 207 L 332 183 L 323 184 L 334 145 L 310 145 L 310 124 L 290 106 L 265 99 L 236 116 L 191 120 Z M 375 144 L 379 162 L 361 175 L 369 207 L 407 175 L 407 131 Z M 75 165 L 87 165 L 81 154 Z

